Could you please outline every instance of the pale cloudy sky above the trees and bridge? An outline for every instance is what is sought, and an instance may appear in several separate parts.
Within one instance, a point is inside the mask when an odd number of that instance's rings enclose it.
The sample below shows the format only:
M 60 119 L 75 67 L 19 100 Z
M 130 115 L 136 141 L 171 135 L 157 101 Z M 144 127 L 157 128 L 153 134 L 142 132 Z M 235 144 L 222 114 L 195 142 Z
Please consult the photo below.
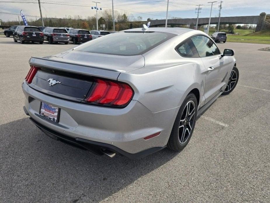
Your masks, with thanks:
M 8 1 L 8 2 L 4 2 Z M 15 3 L 11 3 L 13 1 Z M 38 0 L 0 0 L 0 19 L 4 21 L 18 20 L 18 16 L 5 14 L 6 13 L 20 13 L 23 10 L 25 15 L 40 17 Z M 41 10 L 43 17 L 47 16 L 55 18 L 65 18 L 65 16 L 81 16 L 86 18 L 87 16 L 94 16 L 95 9 L 91 9 L 91 6 L 95 6 L 91 0 L 40 0 Z M 94 0 L 93 0 L 94 1 Z M 214 1 L 214 0 L 211 0 Z M 220 0 L 219 0 L 220 1 Z M 265 12 L 270 14 L 270 1 L 269 0 L 223 0 L 221 16 L 258 16 L 260 13 Z M 110 9 L 112 8 L 112 0 L 99 0 L 99 8 Z M 211 4 L 207 3 L 209 0 L 169 0 L 169 19 L 172 17 L 178 18 L 196 18 L 195 13 L 196 5 L 203 4 L 199 17 L 209 17 Z M 59 4 L 73 4 L 73 5 L 59 5 Z M 77 6 L 74 6 L 74 5 Z M 136 19 L 138 16 L 142 17 L 142 20 L 147 18 L 152 19 L 165 19 L 167 0 L 114 0 L 115 11 L 119 13 L 128 13 L 130 20 Z M 102 11 L 98 10 L 101 14 Z M 218 3 L 213 4 L 212 17 L 218 16 Z M 27 19 L 33 17 L 27 17 Z

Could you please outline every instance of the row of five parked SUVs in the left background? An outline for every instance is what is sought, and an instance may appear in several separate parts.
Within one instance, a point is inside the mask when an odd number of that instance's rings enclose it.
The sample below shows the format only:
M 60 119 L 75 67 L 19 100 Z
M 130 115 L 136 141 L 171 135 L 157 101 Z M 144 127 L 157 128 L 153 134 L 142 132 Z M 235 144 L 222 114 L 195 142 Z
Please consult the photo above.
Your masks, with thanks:
M 4 31 L 6 37 L 13 35 L 14 42 L 39 42 L 43 44 L 48 41 L 49 44 L 62 42 L 73 44 L 88 42 L 89 40 L 108 35 L 111 32 L 105 30 L 83 30 L 73 29 L 71 27 L 36 27 L 36 26 L 11 26 Z

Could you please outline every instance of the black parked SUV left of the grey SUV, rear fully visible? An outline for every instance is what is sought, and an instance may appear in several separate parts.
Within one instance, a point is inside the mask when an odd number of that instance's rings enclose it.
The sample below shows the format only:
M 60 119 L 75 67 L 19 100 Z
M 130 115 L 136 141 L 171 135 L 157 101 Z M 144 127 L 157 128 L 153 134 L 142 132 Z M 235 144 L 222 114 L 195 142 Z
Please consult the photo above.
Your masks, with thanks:
M 23 25 L 15 29 L 13 39 L 14 42 L 19 40 L 21 44 L 25 42 L 39 42 L 39 44 L 43 44 L 43 33 L 38 27 Z

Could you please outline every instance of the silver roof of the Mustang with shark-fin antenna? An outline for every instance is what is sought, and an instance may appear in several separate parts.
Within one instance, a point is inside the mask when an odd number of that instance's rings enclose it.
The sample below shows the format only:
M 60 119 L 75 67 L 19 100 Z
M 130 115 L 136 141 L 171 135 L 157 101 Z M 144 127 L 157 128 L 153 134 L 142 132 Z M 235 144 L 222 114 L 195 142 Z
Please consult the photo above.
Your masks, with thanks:
M 167 32 L 175 35 L 180 35 L 185 32 L 194 31 L 193 29 L 189 28 L 182 28 L 182 27 L 149 27 L 146 30 L 142 30 L 142 28 L 134 28 L 128 30 L 122 30 L 120 32 L 139 32 L 139 31 L 146 31 L 146 32 Z

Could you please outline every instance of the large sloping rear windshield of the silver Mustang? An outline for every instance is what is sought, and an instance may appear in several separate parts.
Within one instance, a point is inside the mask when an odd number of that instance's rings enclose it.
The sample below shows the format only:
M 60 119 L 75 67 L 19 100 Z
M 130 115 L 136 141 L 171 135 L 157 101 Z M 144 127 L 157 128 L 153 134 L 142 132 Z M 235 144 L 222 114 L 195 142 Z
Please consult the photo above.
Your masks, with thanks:
M 165 32 L 117 32 L 84 44 L 76 51 L 120 56 L 140 55 L 176 35 Z

